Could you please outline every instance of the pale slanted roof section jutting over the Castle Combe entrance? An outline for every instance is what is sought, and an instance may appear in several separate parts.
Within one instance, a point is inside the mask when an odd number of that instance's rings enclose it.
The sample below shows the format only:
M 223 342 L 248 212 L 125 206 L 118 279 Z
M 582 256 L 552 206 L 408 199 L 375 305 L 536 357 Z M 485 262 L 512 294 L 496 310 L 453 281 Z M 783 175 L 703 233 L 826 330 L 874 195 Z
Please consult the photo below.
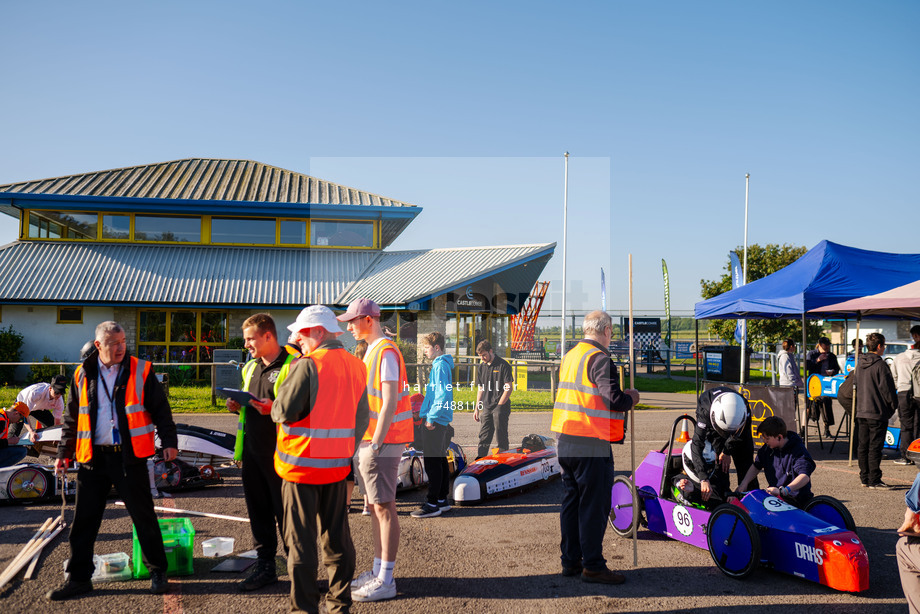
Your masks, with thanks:
M 537 265 L 535 276 L 555 247 L 555 243 L 544 243 L 382 253 L 335 302 L 347 305 L 370 298 L 381 305 L 405 305 L 546 257 Z M 523 291 L 532 286 L 530 281 Z

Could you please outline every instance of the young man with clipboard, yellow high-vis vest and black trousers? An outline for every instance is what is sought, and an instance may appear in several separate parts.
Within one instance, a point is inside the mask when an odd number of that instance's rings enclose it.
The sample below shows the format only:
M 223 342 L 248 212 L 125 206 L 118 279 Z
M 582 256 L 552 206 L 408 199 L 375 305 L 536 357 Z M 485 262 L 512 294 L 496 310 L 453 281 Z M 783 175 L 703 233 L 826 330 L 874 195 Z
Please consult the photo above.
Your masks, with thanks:
M 275 472 L 273 460 L 277 429 L 268 408 L 290 373 L 294 355 L 279 343 L 275 321 L 268 314 L 247 318 L 242 328 L 244 346 L 252 356 L 243 365 L 243 390 L 260 403 L 240 407 L 233 399 L 227 399 L 227 409 L 240 416 L 234 458 L 243 461 L 243 496 L 258 557 L 255 569 L 237 588 L 254 591 L 278 581 L 275 555 L 278 532 L 284 534 L 284 507 L 281 477 Z

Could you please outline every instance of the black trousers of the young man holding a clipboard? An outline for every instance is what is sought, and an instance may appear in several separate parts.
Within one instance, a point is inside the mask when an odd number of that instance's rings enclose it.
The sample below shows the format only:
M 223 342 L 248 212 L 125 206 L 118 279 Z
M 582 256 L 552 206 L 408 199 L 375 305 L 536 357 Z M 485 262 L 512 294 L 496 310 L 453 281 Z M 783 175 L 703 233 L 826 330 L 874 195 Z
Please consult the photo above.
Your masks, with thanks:
M 243 448 L 243 497 L 249 513 L 253 547 L 259 559 L 264 561 L 274 561 L 278 551 L 276 524 L 284 543 L 284 505 L 281 502 L 283 480 L 275 473 L 273 454 L 274 448 L 268 455 L 255 454 Z

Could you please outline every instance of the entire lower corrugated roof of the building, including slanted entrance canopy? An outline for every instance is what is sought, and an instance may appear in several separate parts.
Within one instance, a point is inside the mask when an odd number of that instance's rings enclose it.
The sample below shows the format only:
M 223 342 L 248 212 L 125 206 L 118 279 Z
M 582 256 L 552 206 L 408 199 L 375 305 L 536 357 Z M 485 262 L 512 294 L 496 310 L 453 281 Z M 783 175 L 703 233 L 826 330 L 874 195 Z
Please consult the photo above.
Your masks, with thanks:
M 527 293 L 555 243 L 423 251 L 16 241 L 0 247 L 0 302 L 301 307 L 408 305 L 485 278 Z

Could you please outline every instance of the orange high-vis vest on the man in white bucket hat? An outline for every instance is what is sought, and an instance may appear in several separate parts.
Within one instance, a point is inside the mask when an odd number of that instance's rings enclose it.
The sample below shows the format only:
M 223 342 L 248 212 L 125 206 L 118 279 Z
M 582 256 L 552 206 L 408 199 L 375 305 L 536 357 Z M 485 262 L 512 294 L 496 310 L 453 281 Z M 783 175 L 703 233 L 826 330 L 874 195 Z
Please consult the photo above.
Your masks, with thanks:
M 316 401 L 307 417 L 278 429 L 275 472 L 300 484 L 344 480 L 355 454 L 355 412 L 367 386 L 364 363 L 344 348 L 310 354 Z

